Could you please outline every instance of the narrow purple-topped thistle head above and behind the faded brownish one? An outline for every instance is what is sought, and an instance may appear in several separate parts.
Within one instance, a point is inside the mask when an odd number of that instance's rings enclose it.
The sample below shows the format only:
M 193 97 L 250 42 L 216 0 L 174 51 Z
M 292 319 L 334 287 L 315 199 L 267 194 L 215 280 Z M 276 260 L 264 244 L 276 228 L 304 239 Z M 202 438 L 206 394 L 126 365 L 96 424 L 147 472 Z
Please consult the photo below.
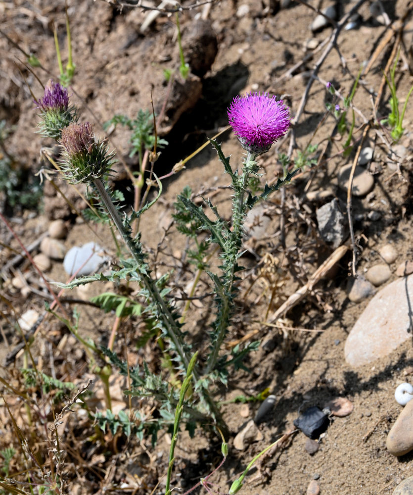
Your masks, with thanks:
M 35 103 L 41 111 L 39 129 L 43 136 L 59 139 L 62 129 L 78 119 L 76 108 L 69 106 L 67 88 L 51 79 L 46 84 L 44 97 L 35 100 Z

